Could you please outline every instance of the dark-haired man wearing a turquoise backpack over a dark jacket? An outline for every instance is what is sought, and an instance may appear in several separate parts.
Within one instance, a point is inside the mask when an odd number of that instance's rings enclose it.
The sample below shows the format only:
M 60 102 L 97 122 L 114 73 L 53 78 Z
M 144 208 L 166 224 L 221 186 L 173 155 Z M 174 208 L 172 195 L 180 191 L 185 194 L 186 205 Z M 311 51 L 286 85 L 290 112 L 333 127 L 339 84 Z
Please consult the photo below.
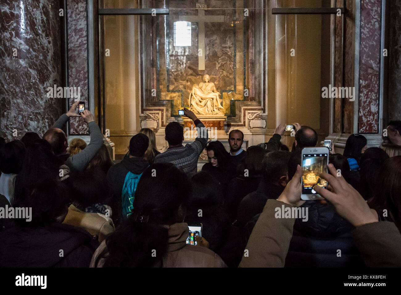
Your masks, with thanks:
M 149 166 L 148 161 L 144 159 L 148 145 L 149 139 L 145 134 L 138 133 L 132 136 L 129 156 L 111 166 L 107 172 L 111 199 L 109 203 L 114 211 L 111 217 L 116 226 L 132 211 L 130 206 L 134 202 L 136 185 L 144 170 Z

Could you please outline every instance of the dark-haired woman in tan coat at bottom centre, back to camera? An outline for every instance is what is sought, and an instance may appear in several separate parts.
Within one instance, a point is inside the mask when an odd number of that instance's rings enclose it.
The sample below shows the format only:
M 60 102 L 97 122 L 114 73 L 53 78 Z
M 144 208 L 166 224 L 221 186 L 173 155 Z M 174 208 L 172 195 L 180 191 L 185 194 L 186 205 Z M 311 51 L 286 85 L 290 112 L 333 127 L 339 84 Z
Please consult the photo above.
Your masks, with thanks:
M 91 267 L 224 267 L 212 250 L 186 244 L 190 195 L 184 172 L 171 163 L 150 165 L 136 188 L 132 214 L 101 243 Z

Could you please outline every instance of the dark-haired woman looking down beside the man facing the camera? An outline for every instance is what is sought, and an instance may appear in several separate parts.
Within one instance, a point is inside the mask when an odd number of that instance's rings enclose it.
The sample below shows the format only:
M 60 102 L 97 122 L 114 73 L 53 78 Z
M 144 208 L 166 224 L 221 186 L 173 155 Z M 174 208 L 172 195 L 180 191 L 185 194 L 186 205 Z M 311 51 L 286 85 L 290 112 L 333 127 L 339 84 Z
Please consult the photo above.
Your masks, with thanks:
M 203 165 L 202 171 L 215 177 L 225 194 L 229 181 L 236 175 L 235 166 L 230 161 L 230 154 L 219 140 L 209 142 L 206 151 L 209 163 Z

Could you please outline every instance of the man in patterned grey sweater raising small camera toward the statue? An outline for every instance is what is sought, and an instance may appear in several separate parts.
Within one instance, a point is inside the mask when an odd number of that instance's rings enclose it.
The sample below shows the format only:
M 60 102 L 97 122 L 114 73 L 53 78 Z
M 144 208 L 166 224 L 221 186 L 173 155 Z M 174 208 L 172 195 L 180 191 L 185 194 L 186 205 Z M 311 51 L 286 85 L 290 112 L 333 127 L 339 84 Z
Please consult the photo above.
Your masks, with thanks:
M 206 147 L 208 132 L 205 125 L 192 111 L 184 108 L 184 115 L 194 121 L 194 125 L 199 130 L 195 141 L 183 146 L 184 129 L 180 123 L 170 122 L 166 126 L 166 136 L 164 136 L 168 142 L 168 149 L 164 153 L 156 155 L 154 163 L 172 163 L 191 177 L 196 174 L 196 164 L 203 149 Z

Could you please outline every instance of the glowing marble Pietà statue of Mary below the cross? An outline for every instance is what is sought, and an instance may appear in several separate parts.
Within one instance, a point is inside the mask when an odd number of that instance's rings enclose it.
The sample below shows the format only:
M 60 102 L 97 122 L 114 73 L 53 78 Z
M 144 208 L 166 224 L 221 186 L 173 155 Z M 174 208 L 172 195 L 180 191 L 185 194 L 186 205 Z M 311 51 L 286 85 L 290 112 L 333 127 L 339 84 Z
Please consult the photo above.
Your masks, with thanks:
M 204 75 L 203 82 L 192 87 L 189 106 L 190 110 L 201 115 L 223 114 L 220 94 L 216 90 L 215 83 L 210 82 L 209 75 Z

